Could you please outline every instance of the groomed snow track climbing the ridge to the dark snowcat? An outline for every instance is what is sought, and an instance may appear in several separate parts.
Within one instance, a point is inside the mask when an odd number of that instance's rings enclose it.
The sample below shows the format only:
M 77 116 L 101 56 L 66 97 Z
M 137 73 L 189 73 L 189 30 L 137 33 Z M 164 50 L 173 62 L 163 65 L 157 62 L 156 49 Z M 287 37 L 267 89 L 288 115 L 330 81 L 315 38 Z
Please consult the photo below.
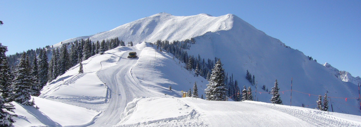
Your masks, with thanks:
M 111 91 L 108 104 L 105 110 L 90 126 L 112 126 L 121 121 L 121 114 L 127 106 L 136 97 L 150 97 L 149 91 L 144 89 L 135 81 L 131 70 L 136 65 L 138 58 L 127 58 L 128 53 L 135 50 L 123 52 L 115 66 L 101 70 L 97 73 L 99 79 L 106 83 Z M 141 50 L 136 50 L 139 54 Z M 154 95 L 153 95 L 154 96 Z

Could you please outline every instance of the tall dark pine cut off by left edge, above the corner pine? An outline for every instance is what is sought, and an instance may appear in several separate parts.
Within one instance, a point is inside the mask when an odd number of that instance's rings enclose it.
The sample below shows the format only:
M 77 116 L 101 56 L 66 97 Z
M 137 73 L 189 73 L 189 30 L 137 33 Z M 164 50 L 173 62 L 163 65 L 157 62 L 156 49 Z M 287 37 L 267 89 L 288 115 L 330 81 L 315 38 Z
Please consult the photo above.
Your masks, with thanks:
M 6 56 L 8 47 L 0 43 L 0 91 L 4 97 L 4 102 L 11 102 L 12 89 L 11 89 L 11 72 L 9 62 Z

